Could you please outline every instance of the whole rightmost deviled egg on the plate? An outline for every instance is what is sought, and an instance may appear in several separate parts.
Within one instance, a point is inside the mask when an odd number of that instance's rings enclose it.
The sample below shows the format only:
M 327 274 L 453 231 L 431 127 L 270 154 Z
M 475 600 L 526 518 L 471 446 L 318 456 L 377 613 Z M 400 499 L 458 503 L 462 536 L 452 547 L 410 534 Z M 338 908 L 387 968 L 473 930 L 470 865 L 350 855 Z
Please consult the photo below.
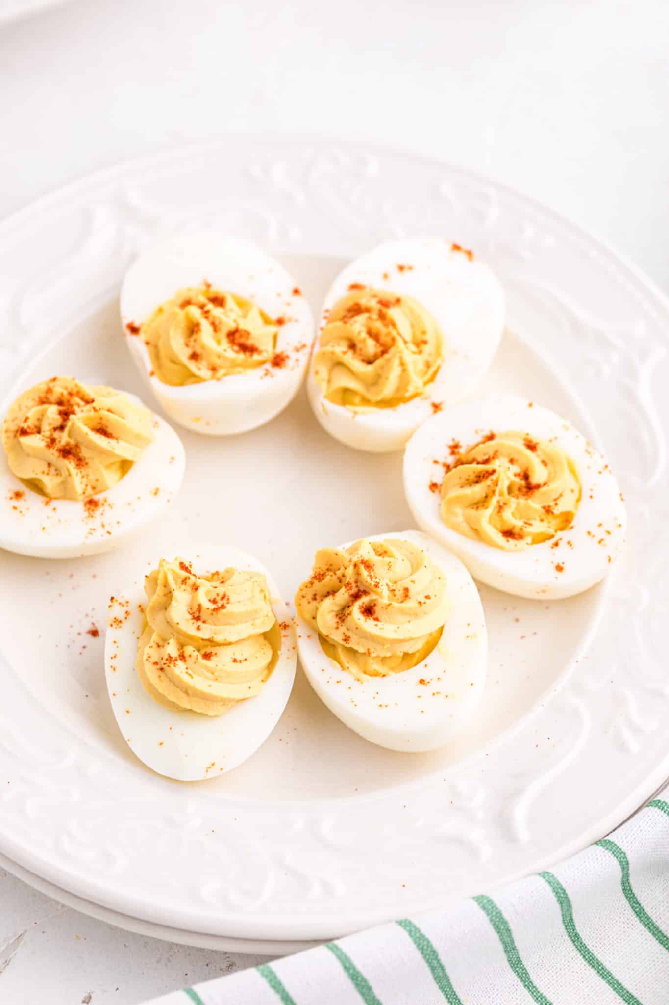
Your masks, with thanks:
M 404 455 L 416 523 L 472 576 L 521 597 L 559 599 L 603 579 L 625 542 L 609 465 L 566 419 L 490 395 L 434 416 Z

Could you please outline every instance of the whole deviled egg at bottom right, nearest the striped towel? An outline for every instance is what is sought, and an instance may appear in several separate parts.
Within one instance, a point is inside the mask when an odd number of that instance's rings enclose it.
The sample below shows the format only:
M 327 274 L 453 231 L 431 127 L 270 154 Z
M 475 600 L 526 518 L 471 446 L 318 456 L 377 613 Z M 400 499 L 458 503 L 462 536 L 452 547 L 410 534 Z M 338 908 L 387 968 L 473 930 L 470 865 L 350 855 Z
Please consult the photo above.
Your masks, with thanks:
M 320 549 L 295 605 L 309 682 L 365 740 L 429 751 L 471 719 L 487 666 L 483 610 L 462 563 L 426 535 Z

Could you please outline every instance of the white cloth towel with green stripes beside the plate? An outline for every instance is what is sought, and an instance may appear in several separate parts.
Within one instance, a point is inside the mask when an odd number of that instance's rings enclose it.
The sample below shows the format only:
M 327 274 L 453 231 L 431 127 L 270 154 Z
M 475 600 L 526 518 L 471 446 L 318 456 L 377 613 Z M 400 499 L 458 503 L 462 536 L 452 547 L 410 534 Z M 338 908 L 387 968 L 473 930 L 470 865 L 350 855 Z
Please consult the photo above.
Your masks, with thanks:
M 608 838 L 494 893 L 153 1005 L 669 1005 L 669 789 Z

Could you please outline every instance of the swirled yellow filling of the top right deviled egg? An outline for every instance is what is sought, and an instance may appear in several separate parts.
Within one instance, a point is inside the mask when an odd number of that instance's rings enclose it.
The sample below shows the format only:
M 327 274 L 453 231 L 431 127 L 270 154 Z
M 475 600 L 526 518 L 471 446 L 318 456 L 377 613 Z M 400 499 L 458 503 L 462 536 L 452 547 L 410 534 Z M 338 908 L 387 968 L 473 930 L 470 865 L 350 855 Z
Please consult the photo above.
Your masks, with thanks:
M 314 377 L 335 405 L 392 408 L 422 394 L 442 354 L 441 331 L 422 304 L 365 286 L 332 308 Z

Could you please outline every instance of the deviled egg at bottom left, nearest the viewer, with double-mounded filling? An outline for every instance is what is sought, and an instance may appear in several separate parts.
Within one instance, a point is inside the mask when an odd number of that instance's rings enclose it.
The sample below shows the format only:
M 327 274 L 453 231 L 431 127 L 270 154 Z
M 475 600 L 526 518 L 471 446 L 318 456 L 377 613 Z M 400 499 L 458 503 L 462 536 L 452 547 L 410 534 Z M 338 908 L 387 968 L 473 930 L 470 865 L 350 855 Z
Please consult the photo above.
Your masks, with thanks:
M 216 778 L 251 757 L 295 679 L 295 628 L 253 556 L 203 546 L 160 559 L 109 603 L 107 689 L 133 754 L 179 781 Z

